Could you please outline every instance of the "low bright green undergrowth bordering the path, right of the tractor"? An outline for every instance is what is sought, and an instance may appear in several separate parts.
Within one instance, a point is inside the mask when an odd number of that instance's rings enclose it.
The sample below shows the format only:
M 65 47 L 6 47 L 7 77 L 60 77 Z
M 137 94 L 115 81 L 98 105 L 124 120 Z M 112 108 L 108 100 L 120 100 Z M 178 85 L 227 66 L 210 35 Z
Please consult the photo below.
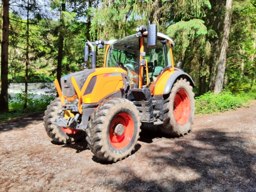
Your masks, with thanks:
M 223 91 L 220 94 L 207 92 L 199 97 L 196 97 L 196 114 L 207 114 L 228 111 L 242 107 L 245 102 L 256 99 L 256 91 L 240 92 L 232 94 L 231 92 Z

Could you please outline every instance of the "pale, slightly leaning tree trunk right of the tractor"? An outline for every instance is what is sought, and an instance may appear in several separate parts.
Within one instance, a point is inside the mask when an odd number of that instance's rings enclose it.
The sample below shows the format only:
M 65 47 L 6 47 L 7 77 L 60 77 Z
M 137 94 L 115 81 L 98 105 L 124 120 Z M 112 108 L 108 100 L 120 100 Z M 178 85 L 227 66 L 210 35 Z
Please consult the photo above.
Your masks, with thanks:
M 221 40 L 221 51 L 220 51 L 214 93 L 220 93 L 223 88 L 227 49 L 228 49 L 229 28 L 231 23 L 231 7 L 232 7 L 232 0 L 227 0 L 226 13 L 225 13 L 225 19 L 224 19 L 223 37 Z

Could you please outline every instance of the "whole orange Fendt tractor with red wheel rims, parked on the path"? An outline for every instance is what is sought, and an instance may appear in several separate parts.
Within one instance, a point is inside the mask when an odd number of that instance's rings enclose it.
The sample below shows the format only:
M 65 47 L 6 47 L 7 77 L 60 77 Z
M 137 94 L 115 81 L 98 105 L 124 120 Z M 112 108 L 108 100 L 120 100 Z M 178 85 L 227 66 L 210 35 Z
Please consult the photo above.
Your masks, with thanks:
M 44 116 L 52 140 L 71 143 L 85 136 L 95 156 L 116 162 L 131 155 L 141 123 L 175 136 L 190 131 L 194 82 L 174 67 L 174 42 L 156 25 L 136 31 L 120 40 L 88 41 L 84 60 L 91 56 L 92 69 L 63 76 L 60 84 L 55 80 L 59 97 Z M 94 46 L 104 45 L 104 67 L 96 68 Z

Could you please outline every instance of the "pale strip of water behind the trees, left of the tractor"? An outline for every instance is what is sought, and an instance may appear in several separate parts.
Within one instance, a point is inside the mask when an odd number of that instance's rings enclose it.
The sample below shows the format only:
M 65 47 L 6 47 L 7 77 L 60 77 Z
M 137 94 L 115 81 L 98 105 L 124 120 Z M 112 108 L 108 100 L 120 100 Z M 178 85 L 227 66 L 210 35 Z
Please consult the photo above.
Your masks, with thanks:
M 25 83 L 10 83 L 8 94 L 11 96 L 11 100 L 16 93 L 21 93 L 22 89 L 25 90 Z M 28 83 L 28 92 L 35 93 L 34 98 L 40 98 L 41 94 L 56 95 L 56 88 L 54 83 Z

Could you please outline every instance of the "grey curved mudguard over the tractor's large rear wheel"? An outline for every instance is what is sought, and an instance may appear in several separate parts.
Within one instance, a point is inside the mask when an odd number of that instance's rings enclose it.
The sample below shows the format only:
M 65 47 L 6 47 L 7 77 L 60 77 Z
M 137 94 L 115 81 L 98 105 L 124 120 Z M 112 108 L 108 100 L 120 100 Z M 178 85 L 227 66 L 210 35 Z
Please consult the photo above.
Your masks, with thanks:
M 168 94 L 171 92 L 172 90 L 172 86 L 173 84 L 176 82 L 177 79 L 183 78 L 183 79 L 187 79 L 187 81 L 190 82 L 190 85 L 194 88 L 195 87 L 195 83 L 192 80 L 191 76 L 189 76 L 187 73 L 185 73 L 184 71 L 182 71 L 181 69 L 175 68 L 177 71 L 174 72 L 168 79 L 168 81 L 166 82 L 165 86 L 164 86 L 164 94 Z

